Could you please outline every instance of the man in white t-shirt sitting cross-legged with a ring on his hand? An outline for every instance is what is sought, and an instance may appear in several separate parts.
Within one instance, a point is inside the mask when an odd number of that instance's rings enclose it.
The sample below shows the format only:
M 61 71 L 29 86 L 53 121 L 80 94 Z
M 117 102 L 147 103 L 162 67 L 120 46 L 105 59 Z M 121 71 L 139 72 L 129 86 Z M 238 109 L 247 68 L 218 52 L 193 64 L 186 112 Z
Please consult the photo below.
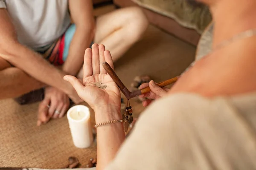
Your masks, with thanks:
M 148 26 L 137 7 L 95 19 L 92 0 L 0 0 L 0 23 L 0 99 L 44 88 L 38 125 L 62 117 L 69 99 L 82 101 L 63 77 L 82 77 L 92 42 L 104 44 L 115 61 Z

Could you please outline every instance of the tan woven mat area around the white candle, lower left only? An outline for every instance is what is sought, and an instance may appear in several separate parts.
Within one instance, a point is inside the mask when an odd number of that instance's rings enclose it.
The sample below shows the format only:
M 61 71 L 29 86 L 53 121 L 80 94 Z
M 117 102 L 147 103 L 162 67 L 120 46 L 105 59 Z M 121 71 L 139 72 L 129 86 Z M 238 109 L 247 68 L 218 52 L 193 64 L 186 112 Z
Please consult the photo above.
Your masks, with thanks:
M 96 156 L 95 142 L 87 149 L 74 147 L 67 116 L 38 127 L 38 103 L 20 106 L 9 99 L 0 101 L 0 108 L 0 167 L 56 169 L 65 167 L 70 156 L 82 165 Z

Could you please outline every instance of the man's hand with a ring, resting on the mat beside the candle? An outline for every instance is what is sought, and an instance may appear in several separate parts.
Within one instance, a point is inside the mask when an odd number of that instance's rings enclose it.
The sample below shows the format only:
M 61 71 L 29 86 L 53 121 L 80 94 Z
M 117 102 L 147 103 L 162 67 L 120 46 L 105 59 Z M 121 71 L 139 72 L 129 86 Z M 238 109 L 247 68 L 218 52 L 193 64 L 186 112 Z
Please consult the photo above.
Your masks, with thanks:
M 38 109 L 38 125 L 47 123 L 50 118 L 61 118 L 70 105 L 69 97 L 57 88 L 47 87 L 44 92 L 44 100 Z M 49 106 L 49 107 L 48 107 Z

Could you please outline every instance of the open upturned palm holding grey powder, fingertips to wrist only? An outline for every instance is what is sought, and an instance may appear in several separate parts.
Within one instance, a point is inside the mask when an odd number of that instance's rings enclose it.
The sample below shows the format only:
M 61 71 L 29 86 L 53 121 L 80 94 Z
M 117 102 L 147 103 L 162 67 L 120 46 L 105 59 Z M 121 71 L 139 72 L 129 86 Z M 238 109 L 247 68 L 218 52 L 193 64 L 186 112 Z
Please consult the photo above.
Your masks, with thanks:
M 65 76 L 64 80 L 73 85 L 81 99 L 87 102 L 94 111 L 102 111 L 109 107 L 120 110 L 119 88 L 103 68 L 103 62 L 108 62 L 113 68 L 110 52 L 105 50 L 104 45 L 93 44 L 92 49 L 85 50 L 83 82 L 81 83 L 73 76 Z

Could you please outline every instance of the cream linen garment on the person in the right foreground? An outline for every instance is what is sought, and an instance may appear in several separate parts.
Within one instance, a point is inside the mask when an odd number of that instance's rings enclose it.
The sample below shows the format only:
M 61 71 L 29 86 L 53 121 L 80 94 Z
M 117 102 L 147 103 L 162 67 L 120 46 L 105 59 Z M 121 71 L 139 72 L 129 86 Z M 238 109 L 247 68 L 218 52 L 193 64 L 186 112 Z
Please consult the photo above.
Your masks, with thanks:
M 256 94 L 155 101 L 105 170 L 255 170 Z

